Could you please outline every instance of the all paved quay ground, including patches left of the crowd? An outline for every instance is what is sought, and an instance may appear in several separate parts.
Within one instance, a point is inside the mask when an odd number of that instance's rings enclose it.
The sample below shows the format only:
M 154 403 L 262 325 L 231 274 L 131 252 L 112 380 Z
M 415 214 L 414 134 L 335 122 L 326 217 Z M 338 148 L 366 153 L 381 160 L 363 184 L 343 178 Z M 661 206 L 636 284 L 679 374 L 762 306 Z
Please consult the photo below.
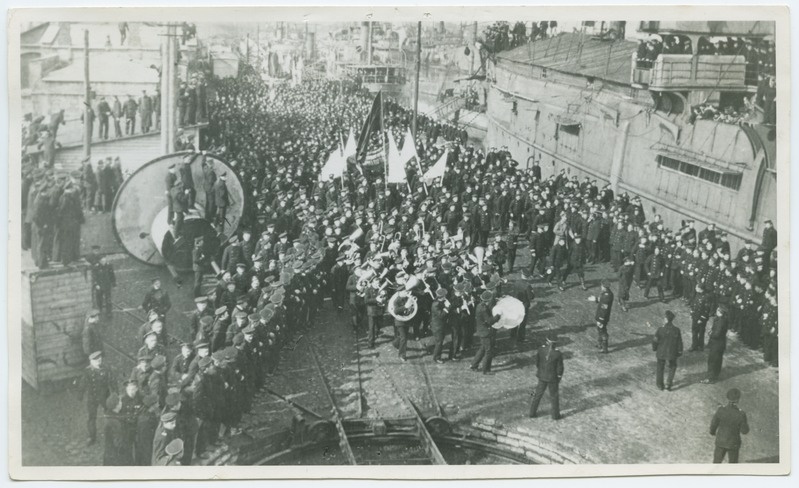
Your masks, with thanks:
M 520 252 L 520 255 L 522 253 Z M 118 287 L 114 301 L 124 310 L 115 311 L 108 324 L 106 340 L 117 350 L 107 351 L 107 363 L 118 376 L 129 374 L 135 355 L 141 311 L 132 310 L 160 276 L 170 294 L 173 308 L 167 316 L 169 333 L 187 338 L 183 311 L 193 308 L 191 287 L 178 288 L 166 270 L 119 257 L 114 265 Z M 519 279 L 517 271 L 510 280 Z M 777 460 L 777 370 L 766 366 L 759 352 L 746 349 L 736 339 L 728 344 L 721 381 L 703 385 L 706 356 L 688 353 L 680 359 L 675 388 L 662 392 L 655 386 L 655 359 L 651 348 L 653 326 L 665 310 L 677 314 L 676 324 L 683 340 L 689 342 L 690 319 L 680 300 L 660 303 L 646 301 L 637 288 L 632 290 L 630 312 L 614 307 L 610 324 L 610 354 L 598 354 L 593 325 L 595 304 L 587 297 L 596 294 L 599 279 L 609 267 L 589 267 L 588 291 L 574 280 L 565 292 L 535 282 L 535 307 L 529 319 L 528 342 L 519 348 L 507 332 L 497 340 L 493 376 L 469 370 L 474 351 L 459 362 L 432 361 L 431 338 L 409 341 L 408 362 L 397 358 L 391 345 L 393 334 L 388 320 L 375 349 L 367 349 L 363 337 L 356 347 L 346 312 L 336 311 L 326 301 L 316 323 L 298 331 L 281 353 L 277 374 L 267 387 L 314 412 L 330 417 L 332 409 L 324 383 L 312 359 L 316 353 L 324 377 L 344 416 L 359 412 L 359 385 L 363 392 L 360 412 L 365 417 L 407 417 L 410 406 L 398 390 L 413 401 L 425 416 L 443 413 L 454 424 L 469 425 L 478 416 L 493 419 L 509 428 L 523 427 L 542 436 L 556 438 L 576 451 L 588 452 L 602 463 L 709 462 L 713 438 L 708 434 L 710 419 L 728 388 L 743 392 L 741 408 L 749 415 L 751 432 L 744 438 L 742 462 Z M 187 278 L 189 279 L 189 278 Z M 615 287 L 615 285 L 614 285 Z M 545 334 L 557 334 L 565 356 L 566 373 L 561 383 L 563 419 L 549 418 L 549 399 L 544 397 L 539 418 L 526 417 L 530 392 L 535 386 L 534 348 Z M 124 354 L 123 354 L 124 353 Z M 177 354 L 177 346 L 170 346 Z M 360 374 L 360 376 L 359 376 Z M 98 443 L 86 447 L 85 407 L 70 389 L 34 391 L 22 389 L 23 464 L 98 465 L 102 461 L 102 415 L 98 417 Z M 295 410 L 267 391 L 257 394 L 253 410 L 245 416 L 247 435 L 258 437 L 287 426 Z M 343 462 L 338 453 L 320 454 L 315 463 Z

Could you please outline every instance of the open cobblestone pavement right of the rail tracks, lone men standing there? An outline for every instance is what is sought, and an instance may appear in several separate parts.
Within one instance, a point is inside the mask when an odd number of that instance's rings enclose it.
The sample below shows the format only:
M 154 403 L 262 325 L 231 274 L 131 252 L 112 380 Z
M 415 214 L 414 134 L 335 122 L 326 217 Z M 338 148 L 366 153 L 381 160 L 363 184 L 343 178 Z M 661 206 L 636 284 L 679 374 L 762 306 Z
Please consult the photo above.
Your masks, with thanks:
M 524 264 L 524 263 L 522 263 Z M 509 279 L 519 279 L 517 272 Z M 712 458 L 713 438 L 710 419 L 720 403 L 726 403 L 727 389 L 743 392 L 741 408 L 748 413 L 750 434 L 744 438 L 742 462 L 778 460 L 777 369 L 762 361 L 732 337 L 728 341 L 721 380 L 704 385 L 707 356 L 689 353 L 678 362 L 671 392 L 655 385 L 655 357 L 651 347 L 655 327 L 662 323 L 666 310 L 672 310 L 681 328 L 683 341 L 690 344 L 690 318 L 682 300 L 661 303 L 646 300 L 643 292 L 632 290 L 630 311 L 614 307 L 610 323 L 610 353 L 599 354 L 593 314 L 596 304 L 587 297 L 599 291 L 600 276 L 610 267 L 589 267 L 588 291 L 576 278 L 564 292 L 538 280 L 536 300 L 528 322 L 528 342 L 516 346 L 501 332 L 493 376 L 468 369 L 473 351 L 460 362 L 438 364 L 425 351 L 432 352 L 431 338 L 414 343 L 408 363 L 394 359 L 390 345 L 378 348 L 380 358 L 396 368 L 395 378 L 406 394 L 437 415 L 433 397 L 449 413 L 454 423 L 470 423 L 478 415 L 494 419 L 507 427 L 528 427 L 565 446 L 590 453 L 602 463 L 696 463 Z M 615 285 L 613 285 L 615 287 Z M 652 327 L 647 325 L 652 324 Z M 549 398 L 545 395 L 539 417 L 527 418 L 530 393 L 535 387 L 535 347 L 546 335 L 559 338 L 565 357 L 565 374 L 560 386 L 560 421 L 549 418 Z M 445 345 L 446 346 L 446 345 Z

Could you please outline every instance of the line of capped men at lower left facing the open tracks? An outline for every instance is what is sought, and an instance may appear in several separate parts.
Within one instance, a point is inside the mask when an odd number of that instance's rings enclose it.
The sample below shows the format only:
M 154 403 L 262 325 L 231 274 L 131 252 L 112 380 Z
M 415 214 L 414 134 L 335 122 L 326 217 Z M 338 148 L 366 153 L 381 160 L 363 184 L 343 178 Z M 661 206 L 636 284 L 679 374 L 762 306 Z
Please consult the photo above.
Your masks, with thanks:
M 202 245 L 198 240 L 197 246 Z M 181 344 L 180 354 L 172 360 L 168 354 L 172 336 L 165 328 L 171 300 L 160 280 L 154 279 L 142 303 L 148 313 L 148 321 L 138 331 L 143 345 L 121 400 L 114 396 L 116 384 L 110 371 L 102 366 L 100 311 L 89 314 L 83 337 L 90 357 L 83 382 L 89 393 L 89 442 L 96 439 L 98 406 L 105 404 L 106 464 L 163 463 L 174 439 L 180 439 L 184 449 L 173 461 L 191 464 L 194 455 L 218 443 L 220 427 L 228 435 L 241 432 L 241 419 L 264 378 L 274 373 L 289 331 L 311 323 L 320 305 L 316 299 L 320 256 L 315 249 L 293 255 L 277 278 L 264 276 L 263 288 L 254 277 L 252 289 L 261 293 L 252 305 L 247 296 L 227 290 L 233 300 L 210 308 L 218 292 L 225 294 L 219 291 L 227 288 L 222 282 L 208 297 L 198 297 L 189 324 L 190 340 Z M 100 266 L 103 259 L 98 261 Z M 162 418 L 155 430 L 152 415 L 159 411 Z

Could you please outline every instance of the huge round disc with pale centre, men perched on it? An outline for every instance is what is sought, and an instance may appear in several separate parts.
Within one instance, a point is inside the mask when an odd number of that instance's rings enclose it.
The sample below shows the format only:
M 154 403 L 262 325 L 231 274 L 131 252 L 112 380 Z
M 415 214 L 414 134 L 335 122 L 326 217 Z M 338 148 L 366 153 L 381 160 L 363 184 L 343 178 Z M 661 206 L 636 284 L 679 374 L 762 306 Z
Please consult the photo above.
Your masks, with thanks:
M 169 167 L 180 167 L 187 158 L 194 181 L 194 208 L 185 217 L 182 236 L 175 239 L 167 223 L 168 201 L 166 177 Z M 153 266 L 171 265 L 176 270 L 191 269 L 191 247 L 195 237 L 205 237 L 206 245 L 219 239 L 224 242 L 239 227 L 246 195 L 238 175 L 227 163 L 211 155 L 205 156 L 217 179 L 225 173 L 230 202 L 220 236 L 205 216 L 205 173 L 203 156 L 192 151 L 167 154 L 143 164 L 122 183 L 114 199 L 111 213 L 114 236 L 133 258 Z

